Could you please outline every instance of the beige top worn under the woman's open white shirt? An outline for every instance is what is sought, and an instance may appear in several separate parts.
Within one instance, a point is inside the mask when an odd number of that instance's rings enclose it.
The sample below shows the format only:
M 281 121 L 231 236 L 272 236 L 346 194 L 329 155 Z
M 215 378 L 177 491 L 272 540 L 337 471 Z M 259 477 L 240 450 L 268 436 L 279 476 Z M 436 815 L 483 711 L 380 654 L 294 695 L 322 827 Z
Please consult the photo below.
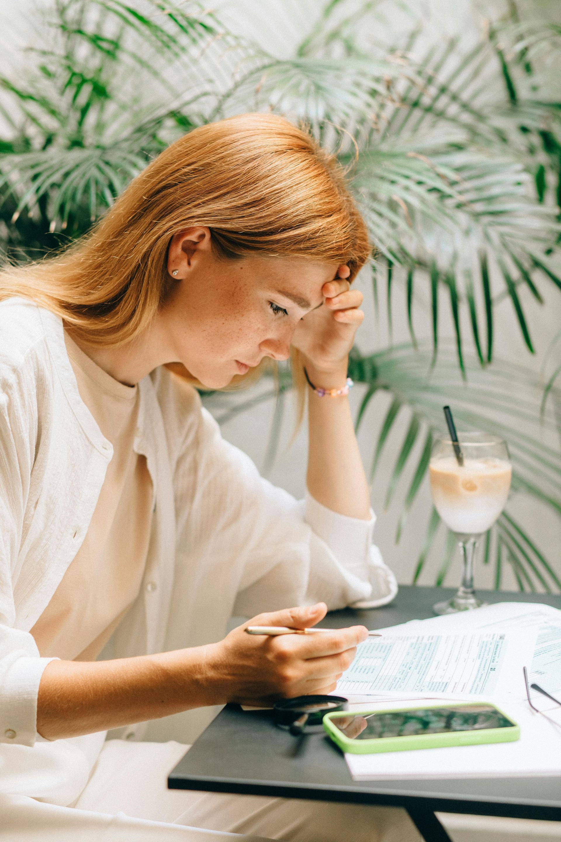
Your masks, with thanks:
M 114 380 L 65 332 L 78 392 L 114 448 L 86 537 L 31 629 L 43 657 L 98 657 L 139 594 L 151 530 L 146 456 L 133 449 L 138 387 Z

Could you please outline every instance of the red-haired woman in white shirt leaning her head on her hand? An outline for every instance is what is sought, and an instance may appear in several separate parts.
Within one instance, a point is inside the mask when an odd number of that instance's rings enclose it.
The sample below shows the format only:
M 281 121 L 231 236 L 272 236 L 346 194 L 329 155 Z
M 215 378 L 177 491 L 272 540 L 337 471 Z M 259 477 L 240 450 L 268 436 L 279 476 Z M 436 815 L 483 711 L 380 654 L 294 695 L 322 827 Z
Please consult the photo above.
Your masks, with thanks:
M 193 712 L 226 701 L 332 690 L 366 635 L 226 634 L 230 616 L 304 627 L 394 598 L 347 402 L 368 253 L 336 163 L 245 115 L 162 152 L 82 242 L 0 276 L 0 839 L 327 842 L 350 820 L 355 842 L 418 838 L 400 811 L 167 792 L 185 745 L 149 741 L 188 742 Z M 189 385 L 291 349 L 310 383 L 301 504 Z

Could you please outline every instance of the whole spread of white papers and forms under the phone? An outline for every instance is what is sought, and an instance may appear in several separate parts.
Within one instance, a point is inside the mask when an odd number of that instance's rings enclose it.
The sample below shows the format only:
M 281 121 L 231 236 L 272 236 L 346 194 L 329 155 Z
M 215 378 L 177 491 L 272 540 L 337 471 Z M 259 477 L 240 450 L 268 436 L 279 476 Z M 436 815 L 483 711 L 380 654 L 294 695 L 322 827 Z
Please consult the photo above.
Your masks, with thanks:
M 369 711 L 422 706 L 427 699 L 495 702 L 521 726 L 516 743 L 347 754 L 359 780 L 388 777 L 561 774 L 561 708 L 537 696 L 548 717 L 527 703 L 530 680 L 561 691 L 561 611 L 500 603 L 461 614 L 415 620 L 361 643 L 337 693 Z M 533 701 L 533 699 L 532 699 Z M 356 704 L 361 702 L 361 704 Z

